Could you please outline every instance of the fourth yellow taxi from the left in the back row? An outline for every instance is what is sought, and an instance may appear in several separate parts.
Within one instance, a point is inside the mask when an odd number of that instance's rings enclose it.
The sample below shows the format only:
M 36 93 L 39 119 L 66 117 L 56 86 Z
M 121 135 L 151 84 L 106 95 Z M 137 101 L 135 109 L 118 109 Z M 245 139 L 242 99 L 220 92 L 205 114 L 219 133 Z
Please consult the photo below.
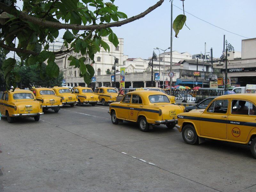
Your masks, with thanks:
M 99 101 L 99 96 L 94 94 L 91 88 L 77 86 L 71 89 L 71 92 L 78 97 L 77 105 L 81 106 L 84 103 L 89 103 L 95 106 Z

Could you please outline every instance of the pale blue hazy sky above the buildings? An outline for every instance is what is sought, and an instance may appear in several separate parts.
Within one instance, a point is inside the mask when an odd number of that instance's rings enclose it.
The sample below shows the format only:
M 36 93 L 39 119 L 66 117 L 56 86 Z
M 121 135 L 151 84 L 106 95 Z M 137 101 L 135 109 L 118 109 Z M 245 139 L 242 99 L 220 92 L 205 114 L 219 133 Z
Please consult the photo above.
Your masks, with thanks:
M 115 4 L 119 7 L 119 11 L 131 17 L 145 11 L 156 2 L 157 0 L 116 0 Z M 180 0 L 173 0 L 173 4 L 182 8 Z M 185 11 L 220 28 L 249 38 L 256 37 L 255 7 L 255 0 L 184 1 Z M 179 14 L 183 14 L 183 11 L 173 6 L 173 19 Z M 204 52 L 204 42 L 206 42 L 206 52 L 212 47 L 213 56 L 220 57 L 225 34 L 235 51 L 241 51 L 241 40 L 245 39 L 244 37 L 216 28 L 186 12 L 185 15 L 190 30 L 184 26 L 178 35 L 179 38 L 173 37 L 173 50 L 189 52 L 193 55 Z M 146 59 L 152 55 L 153 48 L 166 49 L 170 46 L 171 3 L 165 0 L 160 7 L 144 18 L 112 29 L 118 37 L 124 38 L 124 54 L 129 55 L 130 58 Z M 59 37 L 62 36 L 63 32 Z M 156 54 L 159 54 L 157 50 Z

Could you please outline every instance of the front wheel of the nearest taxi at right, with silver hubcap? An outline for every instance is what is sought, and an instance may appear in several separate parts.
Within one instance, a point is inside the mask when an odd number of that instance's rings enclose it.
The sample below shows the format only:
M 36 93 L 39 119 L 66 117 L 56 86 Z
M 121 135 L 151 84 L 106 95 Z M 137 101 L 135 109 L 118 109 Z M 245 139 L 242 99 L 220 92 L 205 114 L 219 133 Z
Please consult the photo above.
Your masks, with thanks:
M 190 145 L 198 143 L 198 136 L 193 125 L 188 124 L 184 126 L 182 129 L 182 138 Z

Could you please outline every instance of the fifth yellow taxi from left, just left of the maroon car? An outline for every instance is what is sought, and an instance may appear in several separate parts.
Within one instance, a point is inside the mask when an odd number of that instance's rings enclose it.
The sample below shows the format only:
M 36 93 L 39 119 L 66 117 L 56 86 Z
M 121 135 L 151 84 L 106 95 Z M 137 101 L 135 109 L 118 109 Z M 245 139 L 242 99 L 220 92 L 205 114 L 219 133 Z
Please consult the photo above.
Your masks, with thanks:
M 118 95 L 116 88 L 113 87 L 100 87 L 96 89 L 95 93 L 99 95 L 99 100 L 103 106 L 106 106 L 108 103 L 116 102 Z

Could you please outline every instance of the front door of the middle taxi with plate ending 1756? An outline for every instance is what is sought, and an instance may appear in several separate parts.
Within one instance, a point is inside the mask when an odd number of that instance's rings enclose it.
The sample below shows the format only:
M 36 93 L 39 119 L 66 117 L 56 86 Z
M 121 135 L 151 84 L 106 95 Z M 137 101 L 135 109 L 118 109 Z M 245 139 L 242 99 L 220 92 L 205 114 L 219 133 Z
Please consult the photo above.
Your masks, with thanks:
M 131 94 L 125 95 L 124 99 L 120 102 L 117 109 L 117 117 L 122 119 L 129 119 L 129 108 L 131 104 Z

